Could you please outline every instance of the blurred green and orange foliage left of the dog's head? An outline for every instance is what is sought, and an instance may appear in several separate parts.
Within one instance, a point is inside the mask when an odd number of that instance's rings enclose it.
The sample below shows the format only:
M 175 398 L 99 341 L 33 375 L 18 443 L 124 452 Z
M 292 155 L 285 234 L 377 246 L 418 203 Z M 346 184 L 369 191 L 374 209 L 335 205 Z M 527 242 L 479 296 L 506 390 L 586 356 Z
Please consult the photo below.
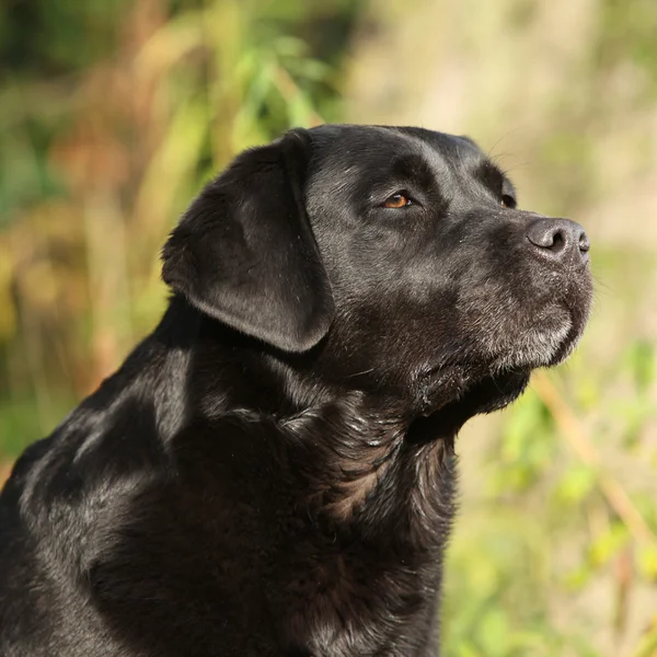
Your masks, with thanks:
M 0 427 L 21 437 L 0 452 L 49 430 L 152 326 L 157 253 L 207 178 L 290 126 L 337 118 L 358 9 L 0 9 Z

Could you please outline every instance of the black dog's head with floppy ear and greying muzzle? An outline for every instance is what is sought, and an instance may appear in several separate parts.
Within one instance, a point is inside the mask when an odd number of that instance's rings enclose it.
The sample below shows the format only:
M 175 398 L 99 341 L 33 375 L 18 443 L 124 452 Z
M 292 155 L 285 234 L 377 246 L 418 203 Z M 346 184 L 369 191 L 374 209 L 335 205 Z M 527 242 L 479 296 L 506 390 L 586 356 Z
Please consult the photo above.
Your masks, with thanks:
M 328 385 L 458 424 L 574 348 L 588 249 L 579 224 L 518 209 L 468 138 L 321 126 L 212 181 L 166 243 L 163 278 Z

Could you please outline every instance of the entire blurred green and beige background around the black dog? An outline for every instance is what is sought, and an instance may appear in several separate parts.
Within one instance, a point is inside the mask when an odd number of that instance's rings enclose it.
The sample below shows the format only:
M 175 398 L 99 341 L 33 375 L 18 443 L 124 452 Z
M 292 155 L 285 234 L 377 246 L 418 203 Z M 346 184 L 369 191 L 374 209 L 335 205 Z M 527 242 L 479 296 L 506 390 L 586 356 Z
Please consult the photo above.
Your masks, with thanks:
M 655 0 L 4 0 L 0 481 L 153 327 L 204 181 L 323 122 L 468 134 L 592 241 L 576 355 L 460 437 L 445 654 L 657 655 Z

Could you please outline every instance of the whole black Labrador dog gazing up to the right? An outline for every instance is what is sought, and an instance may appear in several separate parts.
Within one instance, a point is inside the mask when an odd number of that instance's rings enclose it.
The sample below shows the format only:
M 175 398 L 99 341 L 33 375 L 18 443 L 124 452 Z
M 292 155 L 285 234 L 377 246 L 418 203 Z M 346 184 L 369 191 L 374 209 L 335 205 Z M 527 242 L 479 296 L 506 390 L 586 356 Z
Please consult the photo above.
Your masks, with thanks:
M 7 483 L 0 654 L 436 655 L 454 436 L 573 349 L 587 252 L 466 138 L 241 154 L 160 325 Z

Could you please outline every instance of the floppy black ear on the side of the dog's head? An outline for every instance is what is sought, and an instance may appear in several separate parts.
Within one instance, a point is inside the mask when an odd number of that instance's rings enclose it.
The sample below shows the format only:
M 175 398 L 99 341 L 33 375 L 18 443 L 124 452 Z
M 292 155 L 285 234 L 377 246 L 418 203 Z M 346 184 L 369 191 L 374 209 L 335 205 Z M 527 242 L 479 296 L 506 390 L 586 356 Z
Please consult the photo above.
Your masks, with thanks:
M 192 203 L 162 251 L 162 278 L 207 314 L 285 351 L 328 331 L 333 297 L 303 207 L 310 136 L 240 154 Z

